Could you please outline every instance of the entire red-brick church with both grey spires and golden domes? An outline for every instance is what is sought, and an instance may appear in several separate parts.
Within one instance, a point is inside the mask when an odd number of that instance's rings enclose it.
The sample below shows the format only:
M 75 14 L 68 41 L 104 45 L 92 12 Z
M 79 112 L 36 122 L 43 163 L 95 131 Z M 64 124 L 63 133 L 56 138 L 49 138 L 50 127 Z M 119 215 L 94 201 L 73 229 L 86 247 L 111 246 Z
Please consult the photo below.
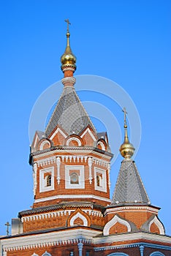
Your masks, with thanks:
M 110 200 L 113 154 L 107 133 L 96 132 L 75 91 L 69 36 L 68 28 L 63 92 L 45 132 L 35 132 L 31 144 L 34 203 L 12 219 L 12 235 L 0 238 L 1 256 L 169 256 L 171 237 L 132 160 L 126 110 L 123 161 Z

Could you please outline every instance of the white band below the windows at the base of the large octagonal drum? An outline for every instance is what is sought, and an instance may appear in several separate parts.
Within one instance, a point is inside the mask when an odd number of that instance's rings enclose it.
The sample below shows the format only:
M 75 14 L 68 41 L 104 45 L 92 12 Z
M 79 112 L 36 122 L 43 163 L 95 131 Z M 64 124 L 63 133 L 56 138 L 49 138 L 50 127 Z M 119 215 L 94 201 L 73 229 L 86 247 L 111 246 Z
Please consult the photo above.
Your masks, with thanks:
M 34 200 L 34 203 L 40 203 L 40 202 L 45 202 L 45 201 L 49 201 L 49 200 L 54 200 L 54 199 L 66 199 L 68 198 L 68 196 L 70 198 L 91 198 L 91 199 L 96 199 L 96 200 L 102 200 L 108 203 L 111 203 L 111 200 L 105 197 L 99 197 L 97 195 L 54 195 L 52 197 L 43 197 L 43 198 L 39 198 Z

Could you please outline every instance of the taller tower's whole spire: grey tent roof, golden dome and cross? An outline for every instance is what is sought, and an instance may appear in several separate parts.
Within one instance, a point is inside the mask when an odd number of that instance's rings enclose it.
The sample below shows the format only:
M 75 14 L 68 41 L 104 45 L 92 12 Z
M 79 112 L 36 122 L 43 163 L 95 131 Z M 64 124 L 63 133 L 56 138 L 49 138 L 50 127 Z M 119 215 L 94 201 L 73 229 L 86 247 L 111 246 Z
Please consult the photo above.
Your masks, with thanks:
M 69 45 L 69 20 L 65 20 L 67 23 L 66 31 L 66 50 L 61 56 L 61 69 L 64 72 L 64 78 L 61 80 L 64 84 L 64 90 L 61 94 L 60 99 L 56 105 L 56 108 L 53 111 L 53 114 L 50 118 L 50 121 L 47 124 L 45 135 L 49 137 L 53 130 L 59 126 L 68 135 L 76 134 L 79 135 L 83 132 L 88 125 L 94 130 L 96 134 L 96 129 L 94 124 L 91 121 L 91 118 L 88 116 L 85 108 L 80 102 L 79 97 L 75 91 L 75 81 L 73 73 L 75 72 L 76 58 L 72 53 L 72 50 Z

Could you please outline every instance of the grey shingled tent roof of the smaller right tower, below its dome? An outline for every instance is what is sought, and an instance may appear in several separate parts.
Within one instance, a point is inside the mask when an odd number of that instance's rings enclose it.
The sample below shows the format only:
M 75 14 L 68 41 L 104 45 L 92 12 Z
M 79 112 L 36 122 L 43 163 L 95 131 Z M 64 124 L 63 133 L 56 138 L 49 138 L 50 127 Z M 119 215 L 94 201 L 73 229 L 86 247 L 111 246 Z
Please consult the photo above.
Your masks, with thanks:
M 130 203 L 149 205 L 150 200 L 134 161 L 123 159 L 113 193 L 112 204 L 130 205 Z

